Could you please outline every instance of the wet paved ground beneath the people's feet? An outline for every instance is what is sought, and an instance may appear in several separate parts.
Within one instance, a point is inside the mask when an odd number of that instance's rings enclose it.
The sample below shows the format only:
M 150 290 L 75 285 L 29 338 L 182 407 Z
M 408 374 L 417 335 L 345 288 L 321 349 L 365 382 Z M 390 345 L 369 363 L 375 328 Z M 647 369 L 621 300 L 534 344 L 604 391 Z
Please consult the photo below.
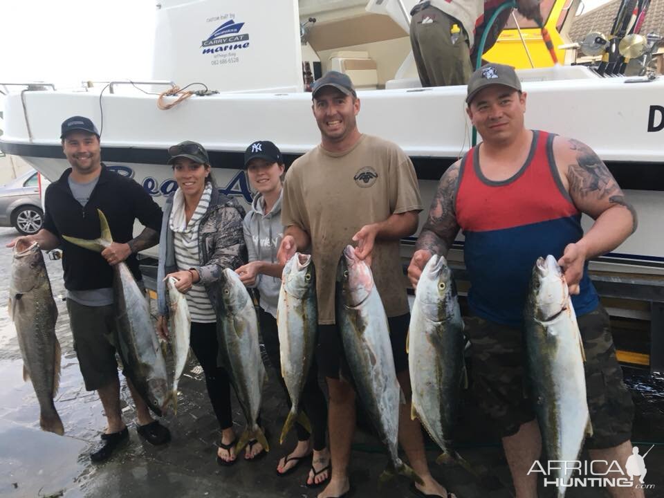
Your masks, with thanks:
M 0 302 L 8 297 L 11 252 L 4 245 L 15 237 L 12 229 L 0 229 Z M 173 435 L 171 443 L 155 448 L 136 434 L 131 397 L 122 382 L 123 412 L 130 428 L 130 442 L 102 465 L 93 465 L 88 454 L 104 428 L 102 405 L 95 393 L 85 391 L 68 329 L 64 287 L 59 261 L 48 261 L 59 310 L 56 333 L 62 344 L 62 380 L 55 406 L 64 422 L 65 436 L 39 430 L 39 407 L 30 382 L 21 378 L 21 357 L 15 331 L 5 308 L 0 309 L 0 496 L 3 497 L 315 497 L 316 490 L 304 486 L 307 465 L 288 477 L 278 477 L 279 457 L 295 443 L 294 432 L 279 448 L 277 434 L 286 416 L 284 394 L 268 369 L 264 391 L 263 419 L 271 434 L 272 450 L 259 462 L 240 461 L 230 468 L 216 465 L 215 441 L 219 440 L 216 419 L 205 391 L 200 367 L 192 358 L 181 380 L 177 415 L 163 418 Z M 664 380 L 643 371 L 625 370 L 637 405 L 634 441 L 640 454 L 653 443 L 645 463 L 648 497 L 664 497 Z M 236 432 L 243 427 L 237 401 L 233 400 Z M 458 465 L 436 465 L 432 443 L 428 456 L 432 473 L 459 498 L 507 498 L 512 487 L 504 454 L 488 423 L 468 394 L 463 398 L 463 416 L 455 434 L 459 452 L 477 475 Z M 394 479 L 378 490 L 380 472 L 387 455 L 369 432 L 358 429 L 351 455 L 353 497 L 396 498 L 414 496 L 409 483 Z M 540 492 L 553 496 L 553 489 Z M 606 496 L 603 490 L 571 488 L 570 498 Z

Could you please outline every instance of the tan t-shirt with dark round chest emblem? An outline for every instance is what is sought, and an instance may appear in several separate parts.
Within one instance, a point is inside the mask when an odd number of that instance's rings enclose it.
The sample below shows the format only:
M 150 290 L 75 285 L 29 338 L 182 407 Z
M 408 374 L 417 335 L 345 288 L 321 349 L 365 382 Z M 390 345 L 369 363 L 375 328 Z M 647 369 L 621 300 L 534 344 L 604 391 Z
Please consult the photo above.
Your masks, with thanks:
M 364 225 L 421 211 L 417 177 L 398 145 L 362 135 L 349 151 L 320 145 L 295 160 L 284 182 L 282 224 L 311 236 L 318 322 L 335 323 L 336 271 L 342 251 Z M 371 269 L 388 317 L 408 312 L 399 241 L 376 241 Z

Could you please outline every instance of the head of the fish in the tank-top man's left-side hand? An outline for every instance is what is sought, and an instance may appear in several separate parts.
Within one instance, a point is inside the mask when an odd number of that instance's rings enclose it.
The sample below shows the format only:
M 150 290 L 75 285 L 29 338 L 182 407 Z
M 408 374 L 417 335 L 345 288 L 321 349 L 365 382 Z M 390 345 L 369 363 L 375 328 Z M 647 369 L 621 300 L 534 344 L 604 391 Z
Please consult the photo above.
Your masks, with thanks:
M 454 309 L 459 306 L 457 284 L 445 257 L 433 255 L 427 262 L 415 295 L 430 320 L 442 322 L 455 315 Z

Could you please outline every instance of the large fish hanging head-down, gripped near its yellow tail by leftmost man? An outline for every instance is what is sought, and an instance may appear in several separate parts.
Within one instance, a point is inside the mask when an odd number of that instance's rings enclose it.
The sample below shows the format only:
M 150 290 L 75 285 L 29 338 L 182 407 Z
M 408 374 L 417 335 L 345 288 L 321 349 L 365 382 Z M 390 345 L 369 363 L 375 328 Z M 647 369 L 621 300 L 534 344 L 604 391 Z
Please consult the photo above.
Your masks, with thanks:
M 111 245 L 113 237 L 106 216 L 100 210 L 97 212 L 101 228 L 99 239 L 62 237 L 82 248 L 102 252 Z M 124 374 L 131 379 L 133 387 L 150 409 L 161 416 L 170 393 L 166 362 L 145 295 L 124 262 L 113 266 L 113 305 L 117 316 L 116 344 Z

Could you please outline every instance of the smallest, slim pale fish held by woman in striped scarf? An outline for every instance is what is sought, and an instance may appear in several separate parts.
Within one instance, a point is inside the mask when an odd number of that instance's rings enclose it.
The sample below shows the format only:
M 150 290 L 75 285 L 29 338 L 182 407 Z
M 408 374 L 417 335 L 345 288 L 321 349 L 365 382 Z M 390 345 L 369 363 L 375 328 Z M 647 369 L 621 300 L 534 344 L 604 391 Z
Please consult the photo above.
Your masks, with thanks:
M 174 372 L 173 388 L 170 399 L 174 412 L 178 411 L 178 382 L 185 371 L 187 358 L 189 358 L 189 340 L 192 328 L 192 318 L 189 313 L 189 304 L 183 293 L 175 287 L 176 279 L 167 277 L 166 288 L 169 304 L 168 339 L 173 355 Z

